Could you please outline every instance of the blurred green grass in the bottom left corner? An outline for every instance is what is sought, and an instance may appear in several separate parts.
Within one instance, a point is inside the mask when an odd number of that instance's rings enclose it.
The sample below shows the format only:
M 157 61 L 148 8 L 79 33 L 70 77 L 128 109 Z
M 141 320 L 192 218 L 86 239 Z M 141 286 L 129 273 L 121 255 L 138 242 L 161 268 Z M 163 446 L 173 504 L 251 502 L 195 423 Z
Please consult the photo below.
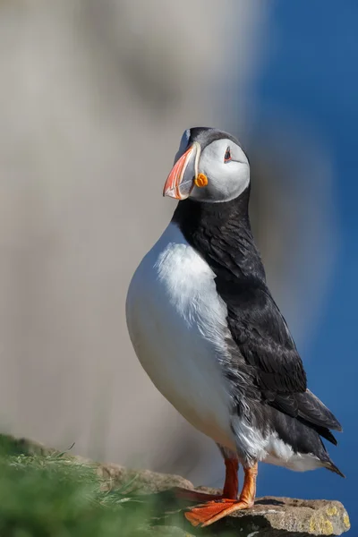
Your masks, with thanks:
M 11 442 L 0 441 L 1 537 L 146 534 L 150 506 L 125 498 L 132 483 L 105 491 L 95 469 L 75 462 L 67 453 L 19 451 Z

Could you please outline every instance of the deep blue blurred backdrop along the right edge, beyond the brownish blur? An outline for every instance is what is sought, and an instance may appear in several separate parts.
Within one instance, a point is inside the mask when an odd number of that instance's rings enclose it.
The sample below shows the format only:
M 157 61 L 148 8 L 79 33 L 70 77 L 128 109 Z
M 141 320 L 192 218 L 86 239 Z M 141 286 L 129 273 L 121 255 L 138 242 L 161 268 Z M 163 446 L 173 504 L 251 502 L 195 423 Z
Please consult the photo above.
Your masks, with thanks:
M 355 0 L 273 0 L 268 42 L 274 46 L 255 81 L 255 114 L 278 107 L 301 117 L 325 141 L 333 164 L 333 200 L 339 237 L 337 262 L 325 307 L 305 349 L 311 385 L 344 426 L 329 447 L 346 474 L 289 473 L 261 466 L 259 495 L 339 499 L 355 514 L 358 480 L 358 3 Z M 309 299 L 309 297 L 307 297 Z

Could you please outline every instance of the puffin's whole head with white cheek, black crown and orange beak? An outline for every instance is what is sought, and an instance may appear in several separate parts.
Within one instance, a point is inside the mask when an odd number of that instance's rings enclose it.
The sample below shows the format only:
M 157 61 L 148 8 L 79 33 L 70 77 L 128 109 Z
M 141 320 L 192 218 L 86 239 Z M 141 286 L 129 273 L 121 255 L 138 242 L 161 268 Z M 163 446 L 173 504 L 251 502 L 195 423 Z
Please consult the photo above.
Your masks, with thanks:
M 163 195 L 177 200 L 230 201 L 249 183 L 249 161 L 234 136 L 193 127 L 183 133 Z

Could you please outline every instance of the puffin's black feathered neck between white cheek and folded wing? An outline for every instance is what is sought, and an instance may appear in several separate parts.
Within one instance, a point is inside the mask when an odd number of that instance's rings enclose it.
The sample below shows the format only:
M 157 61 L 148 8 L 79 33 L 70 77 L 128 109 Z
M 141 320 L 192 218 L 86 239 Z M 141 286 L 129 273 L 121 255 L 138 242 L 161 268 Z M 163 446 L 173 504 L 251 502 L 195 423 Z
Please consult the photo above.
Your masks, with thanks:
M 172 221 L 216 274 L 265 282 L 249 219 L 250 188 L 219 203 L 179 201 Z

